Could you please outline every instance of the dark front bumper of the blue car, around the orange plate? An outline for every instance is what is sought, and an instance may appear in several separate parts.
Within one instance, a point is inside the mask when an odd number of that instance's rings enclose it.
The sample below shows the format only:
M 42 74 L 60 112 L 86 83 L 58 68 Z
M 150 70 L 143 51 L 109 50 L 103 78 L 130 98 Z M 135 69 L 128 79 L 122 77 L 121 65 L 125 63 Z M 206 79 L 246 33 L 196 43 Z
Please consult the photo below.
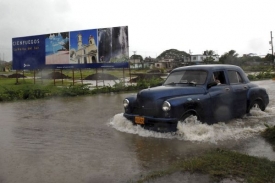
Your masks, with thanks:
M 133 114 L 124 113 L 123 116 L 130 120 L 135 125 L 140 125 L 145 129 L 153 130 L 157 132 L 175 132 L 177 131 L 177 118 L 153 118 L 149 116 L 138 116 Z M 137 123 L 136 117 L 142 117 L 143 123 Z

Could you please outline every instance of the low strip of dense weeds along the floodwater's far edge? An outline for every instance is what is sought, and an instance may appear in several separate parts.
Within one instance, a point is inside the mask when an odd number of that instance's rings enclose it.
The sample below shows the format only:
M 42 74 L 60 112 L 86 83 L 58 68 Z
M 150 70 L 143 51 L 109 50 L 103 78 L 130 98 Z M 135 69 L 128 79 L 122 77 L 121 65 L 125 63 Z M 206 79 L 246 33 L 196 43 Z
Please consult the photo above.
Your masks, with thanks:
M 0 90 L 0 102 L 1 101 L 14 101 L 14 100 L 29 100 L 40 99 L 47 96 L 79 96 L 98 93 L 111 93 L 121 91 L 136 91 L 149 87 L 159 86 L 163 80 L 160 78 L 143 79 L 137 81 L 136 85 L 125 86 L 125 83 L 121 80 L 115 83 L 114 86 L 103 86 L 90 90 L 89 85 L 72 85 L 69 86 L 52 86 L 52 85 L 33 85 L 23 84 L 16 86 L 4 87 Z

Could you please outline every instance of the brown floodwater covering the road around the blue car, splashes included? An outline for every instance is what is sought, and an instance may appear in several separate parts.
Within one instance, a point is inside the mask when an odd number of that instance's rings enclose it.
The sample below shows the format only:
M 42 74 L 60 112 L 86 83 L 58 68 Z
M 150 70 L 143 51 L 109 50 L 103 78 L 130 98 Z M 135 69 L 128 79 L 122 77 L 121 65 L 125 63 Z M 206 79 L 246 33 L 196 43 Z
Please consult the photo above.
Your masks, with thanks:
M 211 126 L 193 119 L 173 134 L 123 118 L 130 93 L 0 103 L 0 182 L 130 182 L 222 147 L 275 161 L 275 148 L 259 135 L 275 125 L 275 81 L 254 83 L 269 93 L 266 111 Z

